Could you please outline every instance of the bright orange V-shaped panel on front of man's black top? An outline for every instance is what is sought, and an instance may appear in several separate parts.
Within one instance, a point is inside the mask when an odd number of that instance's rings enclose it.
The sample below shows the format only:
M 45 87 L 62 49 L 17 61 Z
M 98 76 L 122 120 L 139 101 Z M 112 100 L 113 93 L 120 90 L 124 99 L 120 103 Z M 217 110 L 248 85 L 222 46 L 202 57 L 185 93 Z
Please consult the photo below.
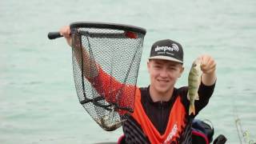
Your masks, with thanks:
M 144 134 L 150 139 L 151 143 L 170 143 L 178 142 L 180 134 L 182 134 L 182 129 L 185 126 L 185 115 L 186 109 L 182 105 L 181 97 L 178 96 L 174 102 L 174 106 L 170 110 L 169 122 L 166 127 L 166 132 L 160 134 L 158 130 L 154 127 L 154 124 L 150 121 L 150 118 L 146 115 L 141 103 L 141 94 L 139 90 L 136 91 L 134 113 L 133 118 L 142 126 Z

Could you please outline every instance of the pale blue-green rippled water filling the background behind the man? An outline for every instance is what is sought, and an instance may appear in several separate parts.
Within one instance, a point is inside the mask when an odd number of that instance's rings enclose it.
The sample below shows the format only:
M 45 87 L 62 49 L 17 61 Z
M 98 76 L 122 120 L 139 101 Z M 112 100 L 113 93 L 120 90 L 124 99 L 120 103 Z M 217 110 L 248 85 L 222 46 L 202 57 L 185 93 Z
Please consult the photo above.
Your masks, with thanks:
M 115 22 L 146 28 L 138 86 L 147 86 L 151 44 L 182 43 L 186 85 L 200 54 L 218 63 L 210 103 L 198 115 L 214 123 L 215 136 L 240 143 L 235 115 L 256 141 L 256 1 L 254 0 L 2 0 L 0 2 L 0 143 L 113 142 L 122 134 L 102 130 L 79 104 L 71 49 L 49 31 L 70 22 Z M 234 109 L 236 107 L 237 109 Z

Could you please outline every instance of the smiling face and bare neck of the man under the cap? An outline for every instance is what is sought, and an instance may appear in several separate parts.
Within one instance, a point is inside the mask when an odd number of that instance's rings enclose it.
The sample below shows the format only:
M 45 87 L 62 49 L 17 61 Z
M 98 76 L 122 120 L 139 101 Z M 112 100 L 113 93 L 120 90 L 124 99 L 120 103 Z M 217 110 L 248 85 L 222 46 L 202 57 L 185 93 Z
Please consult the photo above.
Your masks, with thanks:
M 151 59 L 147 63 L 150 73 L 150 95 L 153 99 L 166 99 L 171 97 L 174 90 L 174 84 L 182 75 L 184 68 L 178 62 Z M 160 98 L 168 97 L 168 98 Z M 159 97 L 159 98 L 156 98 Z

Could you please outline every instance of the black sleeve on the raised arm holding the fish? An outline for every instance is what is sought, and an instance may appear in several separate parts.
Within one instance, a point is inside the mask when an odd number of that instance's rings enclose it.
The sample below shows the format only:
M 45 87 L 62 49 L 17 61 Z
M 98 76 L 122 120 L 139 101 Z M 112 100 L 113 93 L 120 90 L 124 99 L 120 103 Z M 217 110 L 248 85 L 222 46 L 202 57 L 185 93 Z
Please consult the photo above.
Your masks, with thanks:
M 196 114 L 208 104 L 211 95 L 214 93 L 214 87 L 215 82 L 212 86 L 206 86 L 201 82 L 198 89 L 199 101 L 194 102 Z

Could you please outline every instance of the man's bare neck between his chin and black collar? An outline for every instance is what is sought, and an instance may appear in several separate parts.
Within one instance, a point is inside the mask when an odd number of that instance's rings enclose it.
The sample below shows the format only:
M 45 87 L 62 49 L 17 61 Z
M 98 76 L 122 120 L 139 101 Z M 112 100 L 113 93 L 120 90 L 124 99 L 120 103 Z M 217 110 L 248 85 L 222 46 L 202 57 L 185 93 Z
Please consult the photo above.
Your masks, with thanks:
M 152 98 L 153 102 L 168 102 L 174 93 L 174 88 L 166 91 L 165 93 L 158 92 L 153 90 L 150 86 L 150 97 Z

